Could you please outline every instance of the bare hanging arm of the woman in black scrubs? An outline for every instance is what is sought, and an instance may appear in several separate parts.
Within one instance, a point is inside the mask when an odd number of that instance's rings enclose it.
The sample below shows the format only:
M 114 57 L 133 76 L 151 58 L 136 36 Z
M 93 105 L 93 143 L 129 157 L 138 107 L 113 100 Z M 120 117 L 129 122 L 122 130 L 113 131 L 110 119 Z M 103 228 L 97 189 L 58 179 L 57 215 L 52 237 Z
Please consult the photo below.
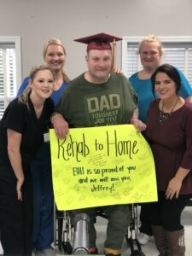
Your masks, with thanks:
M 21 163 L 20 155 L 20 142 L 21 142 L 21 133 L 13 131 L 11 129 L 7 130 L 8 134 L 8 154 L 11 166 L 15 172 L 15 177 L 17 178 L 17 198 L 22 200 L 21 187 L 24 182 L 24 173 Z

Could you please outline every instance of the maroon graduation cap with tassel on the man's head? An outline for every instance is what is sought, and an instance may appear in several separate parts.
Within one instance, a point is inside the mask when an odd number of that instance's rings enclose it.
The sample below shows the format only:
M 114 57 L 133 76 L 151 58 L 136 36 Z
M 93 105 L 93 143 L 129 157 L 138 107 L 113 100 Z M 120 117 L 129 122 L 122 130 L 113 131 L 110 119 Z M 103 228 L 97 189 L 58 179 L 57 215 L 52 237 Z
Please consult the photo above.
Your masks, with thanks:
M 116 47 L 116 41 L 122 40 L 122 38 L 108 35 L 106 33 L 99 33 L 95 34 L 89 37 L 85 38 L 79 38 L 75 39 L 74 41 L 87 44 L 87 52 L 90 51 L 90 49 L 99 49 L 99 50 L 104 50 L 104 49 L 109 49 L 112 50 L 112 70 L 114 68 L 114 55 L 115 55 L 115 47 Z M 111 44 L 112 43 L 112 46 Z

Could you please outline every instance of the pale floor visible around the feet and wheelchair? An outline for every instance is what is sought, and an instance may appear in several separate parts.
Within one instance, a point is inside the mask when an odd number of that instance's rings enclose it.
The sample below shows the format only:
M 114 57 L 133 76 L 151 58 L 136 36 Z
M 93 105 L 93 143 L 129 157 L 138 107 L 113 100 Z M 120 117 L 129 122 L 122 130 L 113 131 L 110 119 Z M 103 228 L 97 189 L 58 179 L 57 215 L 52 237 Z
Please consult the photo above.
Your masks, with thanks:
M 185 227 L 185 243 L 186 243 L 186 253 L 185 256 L 192 256 L 192 207 L 186 207 L 183 211 L 182 221 Z M 97 230 L 97 240 L 96 244 L 99 250 L 99 253 L 103 252 L 103 241 L 105 241 L 107 221 L 104 218 L 98 217 L 96 220 L 96 230 Z M 137 247 L 136 247 L 137 248 Z M 145 256 L 157 256 L 158 252 L 155 248 L 154 242 L 149 241 L 147 245 L 142 246 L 142 251 Z M 3 253 L 1 244 L 0 244 L 0 254 Z M 61 253 L 57 254 L 63 255 Z M 127 242 L 124 241 L 122 248 L 122 256 L 131 255 L 131 250 L 127 245 Z

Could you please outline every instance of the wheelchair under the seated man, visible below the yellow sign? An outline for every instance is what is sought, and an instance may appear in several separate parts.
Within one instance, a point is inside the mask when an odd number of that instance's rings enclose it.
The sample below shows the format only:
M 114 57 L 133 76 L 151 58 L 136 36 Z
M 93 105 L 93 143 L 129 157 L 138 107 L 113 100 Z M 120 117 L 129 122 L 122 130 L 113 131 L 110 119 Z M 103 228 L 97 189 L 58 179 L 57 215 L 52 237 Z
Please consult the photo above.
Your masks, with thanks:
M 131 256 L 145 256 L 142 252 L 142 247 L 137 240 L 138 234 L 138 205 L 130 205 L 130 225 L 125 236 L 128 247 L 131 249 Z M 96 217 L 107 218 L 108 216 L 98 210 Z M 55 209 L 55 247 L 58 247 L 60 253 L 72 254 L 73 247 L 73 224 L 65 211 L 58 211 Z

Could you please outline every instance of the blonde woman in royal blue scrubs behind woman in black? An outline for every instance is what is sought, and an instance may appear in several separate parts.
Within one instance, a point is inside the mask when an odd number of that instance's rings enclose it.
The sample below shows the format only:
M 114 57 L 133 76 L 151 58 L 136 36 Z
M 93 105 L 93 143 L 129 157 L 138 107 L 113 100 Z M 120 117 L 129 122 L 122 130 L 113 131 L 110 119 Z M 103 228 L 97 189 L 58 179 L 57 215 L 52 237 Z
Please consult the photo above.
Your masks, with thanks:
M 66 49 L 60 39 L 49 38 L 45 42 L 44 61 L 52 69 L 55 77 L 55 86 L 51 95 L 55 105 L 60 101 L 62 92 L 67 88 L 67 82 L 69 81 L 64 70 L 66 55 Z M 28 84 L 29 78 L 26 77 L 20 86 L 18 96 Z M 46 90 L 44 90 L 45 95 Z M 54 241 L 54 195 L 49 143 L 44 143 L 39 149 L 38 154 L 32 161 L 31 169 L 34 202 L 33 247 L 37 253 L 55 255 L 55 251 L 51 247 L 51 243 Z

